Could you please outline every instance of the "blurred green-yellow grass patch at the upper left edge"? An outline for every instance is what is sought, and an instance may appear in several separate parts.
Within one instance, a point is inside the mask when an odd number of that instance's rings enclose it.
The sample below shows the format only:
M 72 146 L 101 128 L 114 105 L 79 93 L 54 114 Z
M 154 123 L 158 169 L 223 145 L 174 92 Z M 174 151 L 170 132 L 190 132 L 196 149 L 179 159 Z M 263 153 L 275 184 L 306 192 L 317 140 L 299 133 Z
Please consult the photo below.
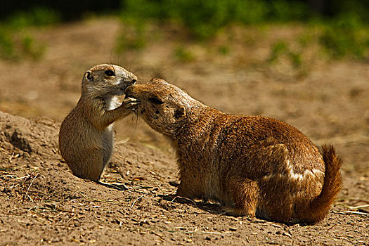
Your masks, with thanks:
M 28 57 L 39 60 L 46 51 L 46 44 L 35 41 L 27 29 L 53 25 L 58 21 L 58 14 L 46 8 L 11 15 L 0 23 L 0 58 L 20 60 Z

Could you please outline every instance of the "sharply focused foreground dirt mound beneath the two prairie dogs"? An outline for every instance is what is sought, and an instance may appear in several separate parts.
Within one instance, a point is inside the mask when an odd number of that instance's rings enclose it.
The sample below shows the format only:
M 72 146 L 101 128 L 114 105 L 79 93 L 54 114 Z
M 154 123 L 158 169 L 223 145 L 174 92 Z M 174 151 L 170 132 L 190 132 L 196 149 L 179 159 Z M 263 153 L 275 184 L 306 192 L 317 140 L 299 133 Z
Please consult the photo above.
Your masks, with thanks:
M 176 181 L 174 158 L 133 143 L 117 145 L 103 177 L 129 190 L 78 179 L 58 155 L 59 126 L 0 112 L 1 245 L 368 242 L 367 217 L 340 205 L 325 221 L 305 227 L 226 216 L 212 203 L 163 200 L 160 195 L 175 190 L 169 185 Z

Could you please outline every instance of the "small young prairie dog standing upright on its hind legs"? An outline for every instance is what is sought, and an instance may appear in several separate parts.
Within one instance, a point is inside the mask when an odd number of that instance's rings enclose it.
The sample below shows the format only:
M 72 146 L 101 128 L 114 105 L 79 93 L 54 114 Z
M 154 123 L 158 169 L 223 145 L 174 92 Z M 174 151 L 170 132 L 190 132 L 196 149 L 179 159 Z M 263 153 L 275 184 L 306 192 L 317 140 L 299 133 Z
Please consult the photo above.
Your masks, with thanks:
M 75 176 L 100 182 L 112 155 L 112 123 L 129 115 L 127 103 L 134 105 L 130 99 L 119 105 L 117 96 L 136 80 L 136 75 L 117 65 L 96 65 L 84 74 L 81 98 L 59 133 L 60 153 Z

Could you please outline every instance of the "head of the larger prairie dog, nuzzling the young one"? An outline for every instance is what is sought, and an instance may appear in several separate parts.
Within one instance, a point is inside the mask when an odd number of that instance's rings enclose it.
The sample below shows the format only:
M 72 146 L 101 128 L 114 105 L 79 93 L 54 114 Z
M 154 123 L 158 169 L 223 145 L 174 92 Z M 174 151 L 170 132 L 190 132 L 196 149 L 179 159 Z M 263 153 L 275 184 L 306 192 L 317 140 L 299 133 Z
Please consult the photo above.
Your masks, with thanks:
M 124 91 L 126 97 L 136 98 L 141 103 L 137 113 L 156 131 L 171 136 L 181 125 L 194 104 L 198 101 L 188 96 L 177 86 L 164 79 L 152 79 L 146 84 L 135 84 Z

